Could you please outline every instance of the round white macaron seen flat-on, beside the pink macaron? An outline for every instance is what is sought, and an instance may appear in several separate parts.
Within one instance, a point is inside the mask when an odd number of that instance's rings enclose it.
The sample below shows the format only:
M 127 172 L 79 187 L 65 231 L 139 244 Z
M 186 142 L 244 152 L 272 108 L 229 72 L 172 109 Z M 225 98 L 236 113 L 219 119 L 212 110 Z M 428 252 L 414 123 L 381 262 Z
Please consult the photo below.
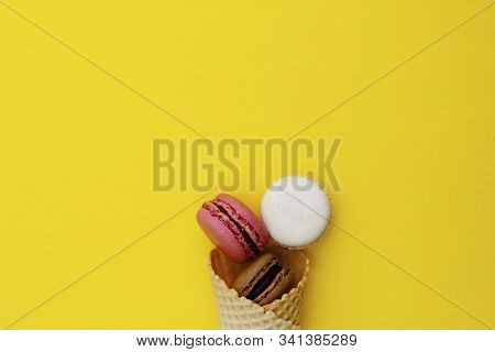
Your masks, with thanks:
M 272 239 L 282 246 L 297 249 L 323 234 L 330 224 L 332 205 L 314 179 L 287 176 L 266 190 L 261 212 Z

